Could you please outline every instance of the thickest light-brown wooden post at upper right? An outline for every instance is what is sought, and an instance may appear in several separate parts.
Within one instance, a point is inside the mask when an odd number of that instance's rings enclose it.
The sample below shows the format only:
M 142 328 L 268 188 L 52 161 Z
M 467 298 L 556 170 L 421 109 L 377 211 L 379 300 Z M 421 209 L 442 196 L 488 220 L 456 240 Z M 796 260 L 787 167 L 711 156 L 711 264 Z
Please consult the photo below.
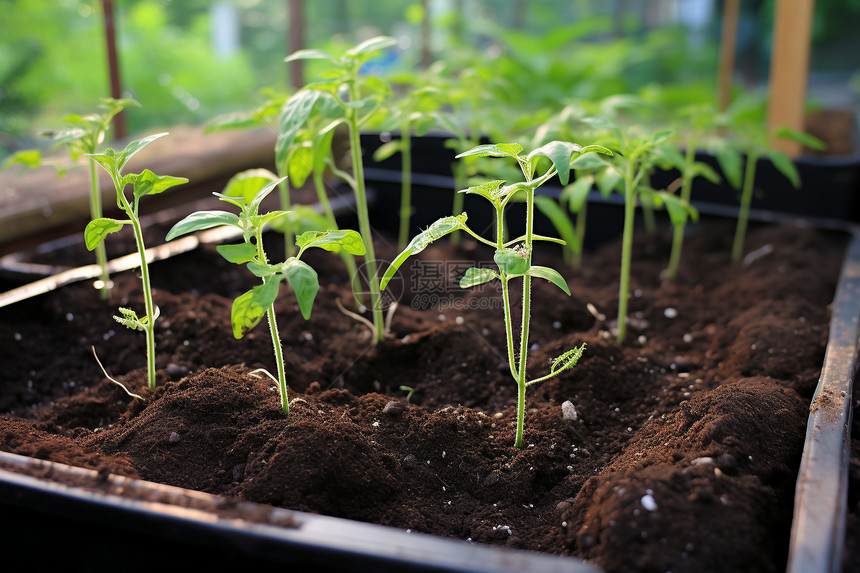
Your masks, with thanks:
M 815 0 L 777 0 L 770 57 L 768 132 L 777 127 L 803 131 L 809 49 Z M 770 145 L 791 157 L 800 155 L 796 141 L 772 138 Z

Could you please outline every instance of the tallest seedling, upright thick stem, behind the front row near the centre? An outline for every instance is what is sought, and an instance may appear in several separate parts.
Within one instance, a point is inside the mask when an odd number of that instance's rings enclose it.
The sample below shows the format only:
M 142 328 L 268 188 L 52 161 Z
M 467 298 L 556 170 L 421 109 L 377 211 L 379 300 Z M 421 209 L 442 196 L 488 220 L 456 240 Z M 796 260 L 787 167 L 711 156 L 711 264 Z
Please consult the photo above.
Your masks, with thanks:
M 396 43 L 394 38 L 379 36 L 362 42 L 341 57 L 335 57 L 320 50 L 299 50 L 286 58 L 287 62 L 309 59 L 326 60 L 333 68 L 322 81 L 306 85 L 291 97 L 284 106 L 282 117 L 286 118 L 289 125 L 294 126 L 297 131 L 310 116 L 317 99 L 320 98 L 334 101 L 343 112 L 343 117 L 335 120 L 335 122 L 337 124 L 345 123 L 349 130 L 352 173 L 342 171 L 333 162 L 329 166 L 332 172 L 346 181 L 355 193 L 359 230 L 367 249 L 365 265 L 370 287 L 370 311 L 373 316 L 374 343 L 385 338 L 385 321 L 382 314 L 382 296 L 379 288 L 376 253 L 373 248 L 370 216 L 367 209 L 367 192 L 365 190 L 364 163 L 361 158 L 359 130 L 379 110 L 382 101 L 390 95 L 391 87 L 375 76 L 361 74 L 360 70 L 365 62 Z M 282 121 L 284 120 L 282 119 Z

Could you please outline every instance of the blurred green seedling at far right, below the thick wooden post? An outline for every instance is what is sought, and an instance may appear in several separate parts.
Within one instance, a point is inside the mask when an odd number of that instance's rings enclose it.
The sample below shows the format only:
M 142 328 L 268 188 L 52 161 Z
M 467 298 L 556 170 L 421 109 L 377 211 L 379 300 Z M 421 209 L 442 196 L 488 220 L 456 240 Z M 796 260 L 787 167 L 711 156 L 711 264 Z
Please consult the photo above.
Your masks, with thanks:
M 768 132 L 756 117 L 756 104 L 750 99 L 738 99 L 717 119 L 717 125 L 728 130 L 731 140 L 723 139 L 710 149 L 717 157 L 720 168 L 729 184 L 741 193 L 738 209 L 738 222 L 732 242 L 732 262 L 740 263 L 743 258 L 744 240 L 749 224 L 750 204 L 755 187 L 755 174 L 761 158 L 770 159 L 777 171 L 782 173 L 794 186 L 800 187 L 800 174 L 791 158 L 772 149 L 768 142 Z M 824 143 L 811 135 L 799 133 L 788 128 L 777 128 L 773 136 L 803 143 L 815 149 L 824 149 Z M 744 161 L 744 157 L 746 160 Z

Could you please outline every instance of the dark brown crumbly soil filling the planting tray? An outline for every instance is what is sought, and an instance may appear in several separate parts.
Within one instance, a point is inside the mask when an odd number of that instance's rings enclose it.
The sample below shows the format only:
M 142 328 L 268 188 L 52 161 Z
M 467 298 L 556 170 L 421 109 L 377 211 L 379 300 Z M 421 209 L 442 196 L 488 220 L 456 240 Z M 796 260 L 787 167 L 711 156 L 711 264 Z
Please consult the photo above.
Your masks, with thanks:
M 659 278 L 668 237 L 637 238 L 622 345 L 611 335 L 620 245 L 587 254 L 581 272 L 538 253 L 573 296 L 534 286 L 530 374 L 588 348 L 529 389 L 522 449 L 499 293 L 461 291 L 449 276 L 492 260 L 473 244 L 428 249 L 403 271 L 379 347 L 337 309 L 352 299 L 340 259 L 309 252 L 322 285 L 310 320 L 290 293 L 277 303 L 289 417 L 274 383 L 250 375 L 274 370 L 266 327 L 238 341 L 229 327 L 232 299 L 254 279 L 212 248 L 152 267 L 154 395 L 143 337 L 111 318 L 142 307 L 134 273 L 115 277 L 109 302 L 78 284 L 2 309 L 0 449 L 607 571 L 781 571 L 844 240 L 764 226 L 747 242 L 761 256 L 735 267 L 731 234 L 700 227 L 674 283 Z M 144 401 L 104 378 L 91 345 Z

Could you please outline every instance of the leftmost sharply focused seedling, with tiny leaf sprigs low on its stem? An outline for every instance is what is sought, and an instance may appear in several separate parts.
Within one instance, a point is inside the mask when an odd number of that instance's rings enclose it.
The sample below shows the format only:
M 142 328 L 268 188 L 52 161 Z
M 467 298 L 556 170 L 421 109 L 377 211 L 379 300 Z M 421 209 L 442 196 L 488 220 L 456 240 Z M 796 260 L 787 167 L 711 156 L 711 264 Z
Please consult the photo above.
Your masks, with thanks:
M 90 159 L 102 166 L 107 171 L 116 189 L 116 205 L 128 216 L 126 220 L 99 217 L 87 224 L 84 230 L 84 242 L 87 249 L 93 250 L 100 245 L 110 233 L 116 233 L 125 225 L 131 225 L 134 229 L 134 240 L 137 244 L 137 252 L 140 256 L 140 280 L 143 286 L 143 298 L 146 315 L 138 317 L 137 313 L 129 308 L 120 308 L 119 316 L 114 316 L 117 322 L 132 330 L 142 330 L 146 334 L 146 358 L 147 358 L 147 380 L 149 389 L 155 390 L 155 321 L 158 318 L 158 308 L 152 302 L 152 289 L 149 283 L 149 265 L 146 261 L 146 247 L 143 242 L 143 227 L 140 224 L 139 204 L 141 197 L 157 195 L 171 187 L 187 183 L 184 177 L 171 177 L 169 175 L 156 175 L 149 169 L 142 173 L 123 174 L 122 170 L 136 153 L 144 147 L 167 135 L 158 133 L 132 141 L 124 150 L 117 153 L 107 148 L 102 153 L 88 155 Z M 125 187 L 131 185 L 133 192 L 129 200 L 125 195 Z

